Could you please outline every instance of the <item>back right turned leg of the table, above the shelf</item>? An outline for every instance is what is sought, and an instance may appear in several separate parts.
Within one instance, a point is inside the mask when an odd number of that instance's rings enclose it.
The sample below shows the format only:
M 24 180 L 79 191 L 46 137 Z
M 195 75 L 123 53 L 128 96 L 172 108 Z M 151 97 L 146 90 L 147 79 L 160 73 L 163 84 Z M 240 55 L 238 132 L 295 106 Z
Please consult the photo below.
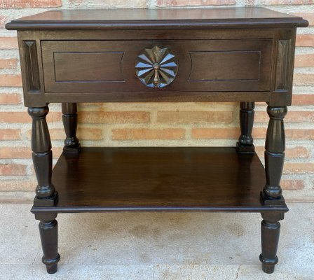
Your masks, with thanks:
M 240 102 L 241 135 L 237 143 L 239 153 L 254 153 L 252 130 L 254 124 L 255 102 Z

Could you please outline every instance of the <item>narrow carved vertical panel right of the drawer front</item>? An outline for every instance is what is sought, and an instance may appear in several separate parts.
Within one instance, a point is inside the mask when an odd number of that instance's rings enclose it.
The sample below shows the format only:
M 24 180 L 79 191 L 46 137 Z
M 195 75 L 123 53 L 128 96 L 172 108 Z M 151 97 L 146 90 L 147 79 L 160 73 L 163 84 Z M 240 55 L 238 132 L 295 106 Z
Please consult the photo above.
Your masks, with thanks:
M 291 40 L 278 41 L 275 90 L 289 90 L 291 49 Z

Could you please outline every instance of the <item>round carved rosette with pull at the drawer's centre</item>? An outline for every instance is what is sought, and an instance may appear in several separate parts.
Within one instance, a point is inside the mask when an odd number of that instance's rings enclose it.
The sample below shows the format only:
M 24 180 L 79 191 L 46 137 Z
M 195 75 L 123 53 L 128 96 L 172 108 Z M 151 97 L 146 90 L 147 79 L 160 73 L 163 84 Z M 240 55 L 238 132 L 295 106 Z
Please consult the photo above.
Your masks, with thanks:
M 135 62 L 136 75 L 146 87 L 165 87 L 177 76 L 178 64 L 168 48 L 145 48 Z

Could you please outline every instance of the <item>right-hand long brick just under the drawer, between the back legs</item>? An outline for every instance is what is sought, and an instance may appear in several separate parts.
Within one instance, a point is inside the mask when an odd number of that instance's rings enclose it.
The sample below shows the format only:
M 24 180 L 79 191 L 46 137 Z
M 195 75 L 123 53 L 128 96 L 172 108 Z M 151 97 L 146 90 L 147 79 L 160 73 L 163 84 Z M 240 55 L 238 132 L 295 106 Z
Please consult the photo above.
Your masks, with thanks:
M 231 123 L 232 120 L 231 111 L 159 111 L 157 113 L 159 123 Z

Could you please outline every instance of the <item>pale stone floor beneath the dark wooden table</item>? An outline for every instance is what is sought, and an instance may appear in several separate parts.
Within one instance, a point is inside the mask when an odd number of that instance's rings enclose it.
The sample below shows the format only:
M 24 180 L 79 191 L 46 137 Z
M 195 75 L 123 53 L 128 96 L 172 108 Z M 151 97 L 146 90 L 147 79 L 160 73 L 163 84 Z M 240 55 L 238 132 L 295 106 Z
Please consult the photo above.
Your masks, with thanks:
M 278 263 L 261 272 L 259 214 L 60 214 L 57 274 L 41 265 L 30 204 L 0 204 L 0 279 L 314 279 L 314 204 L 290 203 Z

